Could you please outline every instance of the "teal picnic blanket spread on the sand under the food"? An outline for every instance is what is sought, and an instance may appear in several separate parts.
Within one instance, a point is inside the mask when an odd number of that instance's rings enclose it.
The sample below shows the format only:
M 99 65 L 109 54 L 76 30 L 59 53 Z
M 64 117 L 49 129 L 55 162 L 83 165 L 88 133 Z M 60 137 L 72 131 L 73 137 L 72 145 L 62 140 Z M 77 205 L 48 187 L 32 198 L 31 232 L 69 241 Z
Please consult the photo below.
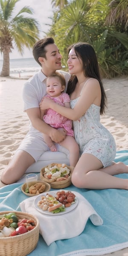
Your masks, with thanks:
M 128 151 L 117 151 L 115 162 L 118 161 L 128 165 Z M 128 174 L 116 176 L 128 179 Z M 20 211 L 20 202 L 27 198 L 21 192 L 22 184 L 14 183 L 0 189 L 0 211 Z M 73 185 L 64 190 L 76 191 L 84 196 L 103 219 L 103 225 L 94 226 L 88 219 L 79 236 L 58 240 L 49 246 L 40 235 L 37 247 L 29 256 L 92 256 L 128 247 L 128 190 L 78 189 Z

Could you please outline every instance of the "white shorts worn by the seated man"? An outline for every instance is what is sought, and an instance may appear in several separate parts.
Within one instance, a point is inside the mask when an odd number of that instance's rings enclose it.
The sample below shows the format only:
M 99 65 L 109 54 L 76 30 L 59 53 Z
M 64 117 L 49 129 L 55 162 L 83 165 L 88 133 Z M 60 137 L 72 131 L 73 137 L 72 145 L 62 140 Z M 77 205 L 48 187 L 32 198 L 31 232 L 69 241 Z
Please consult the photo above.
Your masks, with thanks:
M 57 143 L 55 143 L 55 146 L 57 151 L 63 152 L 67 155 L 67 158 L 69 157 L 69 151 L 66 148 Z M 35 159 L 35 162 L 37 162 L 44 152 L 49 151 L 49 147 L 44 142 L 43 134 L 29 131 L 17 150 L 26 151 Z

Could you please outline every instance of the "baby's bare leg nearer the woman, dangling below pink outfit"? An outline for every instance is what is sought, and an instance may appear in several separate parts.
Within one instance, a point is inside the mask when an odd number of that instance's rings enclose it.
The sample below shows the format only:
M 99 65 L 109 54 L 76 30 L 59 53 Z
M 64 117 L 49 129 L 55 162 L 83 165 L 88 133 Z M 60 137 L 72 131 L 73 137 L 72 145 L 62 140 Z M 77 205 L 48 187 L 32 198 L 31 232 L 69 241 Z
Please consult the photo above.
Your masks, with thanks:
M 72 136 L 66 135 L 65 140 L 59 144 L 70 151 L 70 166 L 75 167 L 79 160 L 79 145 L 76 140 Z

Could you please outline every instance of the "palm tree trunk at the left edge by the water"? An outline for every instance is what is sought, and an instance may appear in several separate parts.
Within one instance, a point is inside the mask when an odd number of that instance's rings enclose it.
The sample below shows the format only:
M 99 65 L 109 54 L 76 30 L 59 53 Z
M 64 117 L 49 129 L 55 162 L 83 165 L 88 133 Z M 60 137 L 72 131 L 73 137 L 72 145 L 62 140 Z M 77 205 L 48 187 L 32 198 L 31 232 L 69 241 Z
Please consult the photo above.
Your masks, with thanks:
M 7 50 L 3 50 L 3 67 L 0 73 L 0 76 L 9 76 L 10 68 L 9 68 L 9 52 Z

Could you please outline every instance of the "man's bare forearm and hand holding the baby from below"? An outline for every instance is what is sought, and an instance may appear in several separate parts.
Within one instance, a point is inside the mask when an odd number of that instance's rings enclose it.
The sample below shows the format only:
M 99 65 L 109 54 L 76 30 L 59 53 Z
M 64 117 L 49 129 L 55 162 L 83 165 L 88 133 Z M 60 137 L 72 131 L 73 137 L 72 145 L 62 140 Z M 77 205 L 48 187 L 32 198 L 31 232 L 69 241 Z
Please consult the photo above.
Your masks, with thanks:
M 41 120 L 40 108 L 29 108 L 26 110 L 26 113 L 32 123 L 32 126 L 41 133 L 49 135 L 52 141 L 60 143 L 65 139 L 66 132 L 63 128 L 56 130 Z

